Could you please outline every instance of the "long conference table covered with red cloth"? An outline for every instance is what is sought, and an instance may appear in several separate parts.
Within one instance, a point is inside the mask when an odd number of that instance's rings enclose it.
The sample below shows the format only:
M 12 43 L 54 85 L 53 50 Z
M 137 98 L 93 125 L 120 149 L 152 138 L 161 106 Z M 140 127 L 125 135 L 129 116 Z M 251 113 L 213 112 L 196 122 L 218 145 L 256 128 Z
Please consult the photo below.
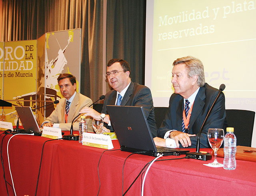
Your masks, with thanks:
M 0 195 L 2 196 L 14 195 L 12 187 L 8 184 L 7 194 L 3 177 L 5 173 L 6 181 L 12 185 L 10 171 L 17 196 L 32 196 L 35 193 L 38 196 L 96 196 L 97 194 L 121 196 L 142 168 L 154 159 L 152 156 L 142 154 L 129 156 L 130 152 L 119 150 L 118 140 L 112 140 L 114 148 L 105 151 L 106 149 L 83 146 L 78 141 L 72 140 L 46 142 L 50 139 L 33 135 L 12 136 L 12 134 L 6 135 L 0 132 L 4 162 L 4 170 L 0 168 Z M 46 143 L 36 192 L 44 142 Z M 200 150 L 212 151 L 212 149 Z M 190 151 L 194 152 L 195 149 Z M 146 176 L 144 195 L 255 195 L 256 162 L 236 160 L 235 170 L 224 170 L 203 165 L 213 162 L 213 158 L 202 161 L 184 159 L 184 156 L 158 158 L 158 160 L 183 159 L 154 162 Z M 221 157 L 217 160 L 223 162 Z M 122 180 L 123 166 L 124 180 Z M 142 179 L 142 176 L 138 177 L 126 193 L 127 196 L 141 195 Z

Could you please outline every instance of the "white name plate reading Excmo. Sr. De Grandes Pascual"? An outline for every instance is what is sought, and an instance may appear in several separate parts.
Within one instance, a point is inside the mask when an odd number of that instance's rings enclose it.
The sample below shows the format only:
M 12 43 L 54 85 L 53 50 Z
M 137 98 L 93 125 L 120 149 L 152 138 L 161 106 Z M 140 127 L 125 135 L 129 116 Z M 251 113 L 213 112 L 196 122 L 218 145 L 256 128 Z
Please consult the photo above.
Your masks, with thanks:
M 112 149 L 114 148 L 109 135 L 83 133 L 83 145 L 96 148 Z

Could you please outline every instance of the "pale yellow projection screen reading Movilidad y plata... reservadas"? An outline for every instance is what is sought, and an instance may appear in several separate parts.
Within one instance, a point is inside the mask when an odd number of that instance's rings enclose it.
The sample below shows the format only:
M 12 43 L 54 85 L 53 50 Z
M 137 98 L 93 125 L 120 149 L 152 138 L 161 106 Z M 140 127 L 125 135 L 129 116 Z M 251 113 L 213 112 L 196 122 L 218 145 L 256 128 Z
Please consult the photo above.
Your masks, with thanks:
M 255 18 L 255 0 L 147 0 L 145 85 L 154 106 L 168 106 L 172 62 L 190 55 L 208 84 L 226 85 L 226 109 L 256 111 Z

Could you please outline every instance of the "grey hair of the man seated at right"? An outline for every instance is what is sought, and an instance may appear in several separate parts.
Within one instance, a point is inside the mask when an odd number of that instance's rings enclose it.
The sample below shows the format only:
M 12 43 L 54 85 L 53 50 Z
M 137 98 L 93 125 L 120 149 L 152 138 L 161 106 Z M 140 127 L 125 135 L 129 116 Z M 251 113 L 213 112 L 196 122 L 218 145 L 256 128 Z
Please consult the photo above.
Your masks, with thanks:
M 178 64 L 185 64 L 186 70 L 188 70 L 188 76 L 198 76 L 197 84 L 198 86 L 202 87 L 205 84 L 205 78 L 204 78 L 204 65 L 202 61 L 200 61 L 198 58 L 195 58 L 193 56 L 185 56 L 182 58 L 177 58 L 173 62 L 173 66 Z

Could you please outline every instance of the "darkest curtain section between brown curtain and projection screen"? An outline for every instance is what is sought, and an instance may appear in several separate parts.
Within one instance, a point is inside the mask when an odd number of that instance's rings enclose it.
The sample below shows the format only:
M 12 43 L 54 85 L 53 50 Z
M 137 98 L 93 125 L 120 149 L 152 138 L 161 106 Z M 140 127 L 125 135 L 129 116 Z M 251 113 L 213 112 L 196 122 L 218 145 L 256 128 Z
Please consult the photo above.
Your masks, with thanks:
M 144 84 L 146 0 L 108 0 L 107 61 L 127 60 L 133 82 Z

